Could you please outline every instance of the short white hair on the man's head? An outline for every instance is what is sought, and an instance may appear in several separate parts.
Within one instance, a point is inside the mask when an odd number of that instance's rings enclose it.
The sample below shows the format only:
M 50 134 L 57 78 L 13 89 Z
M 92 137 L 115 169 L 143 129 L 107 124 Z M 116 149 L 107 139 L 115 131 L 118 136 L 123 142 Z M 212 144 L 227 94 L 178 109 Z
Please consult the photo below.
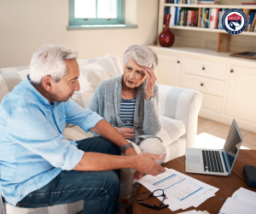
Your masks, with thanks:
M 29 77 L 32 83 L 40 84 L 41 80 L 49 75 L 57 83 L 67 75 L 65 61 L 77 58 L 77 51 L 67 47 L 57 44 L 44 45 L 32 55 Z

